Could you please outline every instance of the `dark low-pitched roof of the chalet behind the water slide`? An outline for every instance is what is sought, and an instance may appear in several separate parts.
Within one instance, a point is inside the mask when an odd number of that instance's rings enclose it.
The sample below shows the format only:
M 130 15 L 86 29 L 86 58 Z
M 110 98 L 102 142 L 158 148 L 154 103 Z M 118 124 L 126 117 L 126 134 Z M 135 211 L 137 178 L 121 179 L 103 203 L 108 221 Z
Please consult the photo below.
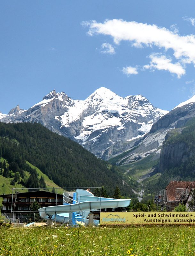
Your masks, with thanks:
M 27 197 L 27 196 L 51 196 L 56 197 L 56 193 L 44 191 L 44 190 L 36 190 L 36 191 L 30 191 L 30 192 L 21 192 L 21 193 L 13 193 L 13 195 L 17 195 L 17 197 Z M 0 195 L 0 197 L 8 197 L 12 196 L 12 194 L 6 194 L 6 195 Z M 57 197 L 61 197 L 61 194 L 57 194 Z

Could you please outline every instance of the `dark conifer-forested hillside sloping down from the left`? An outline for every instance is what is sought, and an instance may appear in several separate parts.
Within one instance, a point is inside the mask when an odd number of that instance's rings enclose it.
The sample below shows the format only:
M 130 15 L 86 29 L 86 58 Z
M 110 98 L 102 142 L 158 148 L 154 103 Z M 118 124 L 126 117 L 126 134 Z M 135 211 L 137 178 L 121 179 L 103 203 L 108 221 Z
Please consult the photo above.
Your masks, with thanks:
M 104 186 L 112 196 L 114 188 L 118 186 L 121 194 L 132 194 L 116 166 L 109 165 L 108 168 L 107 162 L 97 159 L 82 146 L 49 131 L 41 124 L 0 123 L 1 157 L 7 161 L 7 164 L 1 162 L 0 166 L 0 174 L 4 177 L 8 177 L 11 171 L 14 175 L 19 173 L 21 178 L 24 171 L 30 172 L 28 180 L 21 179 L 27 187 L 38 187 L 40 182 L 43 186 L 44 180 L 40 181 L 41 177 L 37 177 L 35 169 L 26 161 L 38 167 L 60 187 Z

